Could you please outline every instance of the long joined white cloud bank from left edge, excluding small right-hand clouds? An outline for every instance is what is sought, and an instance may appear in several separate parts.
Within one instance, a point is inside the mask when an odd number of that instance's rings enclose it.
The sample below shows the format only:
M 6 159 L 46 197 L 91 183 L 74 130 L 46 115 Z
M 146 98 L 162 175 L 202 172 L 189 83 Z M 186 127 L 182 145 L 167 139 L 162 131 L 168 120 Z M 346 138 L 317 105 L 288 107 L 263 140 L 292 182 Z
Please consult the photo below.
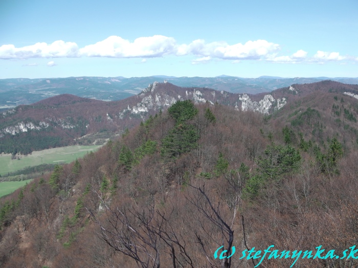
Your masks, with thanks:
M 82 48 L 73 42 L 58 40 L 52 44 L 36 43 L 16 48 L 14 45 L 0 46 L 0 58 L 49 58 L 49 57 L 111 57 L 111 58 L 151 58 L 165 55 L 184 56 L 193 54 L 219 59 L 260 59 L 280 49 L 279 44 L 266 40 L 248 41 L 230 45 L 227 42 L 206 43 L 197 39 L 189 44 L 177 44 L 175 39 L 163 35 L 140 37 L 130 42 L 119 36 L 110 36 L 103 41 Z

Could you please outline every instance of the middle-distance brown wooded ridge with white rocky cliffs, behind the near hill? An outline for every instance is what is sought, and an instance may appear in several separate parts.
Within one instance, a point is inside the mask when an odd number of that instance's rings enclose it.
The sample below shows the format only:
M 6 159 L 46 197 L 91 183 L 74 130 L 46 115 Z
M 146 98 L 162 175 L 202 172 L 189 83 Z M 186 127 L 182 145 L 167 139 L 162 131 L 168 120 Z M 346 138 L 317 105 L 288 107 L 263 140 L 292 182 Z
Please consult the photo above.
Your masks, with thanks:
M 291 87 L 272 91 L 270 94 L 274 101 L 272 104 L 270 103 L 271 108 L 265 112 L 272 114 L 278 110 L 279 105 L 283 105 L 284 108 L 288 106 L 290 109 L 292 105 L 297 105 L 294 104 L 295 102 L 302 102 L 304 98 L 306 100 L 303 103 L 317 100 L 317 103 L 311 105 L 312 108 L 318 105 L 322 106 L 319 103 L 324 99 L 322 95 L 333 93 L 340 95 L 340 98 L 349 99 L 350 97 L 347 96 L 342 97 L 343 92 L 358 94 L 358 86 L 334 81 L 294 84 Z M 260 105 L 257 102 L 263 100 L 267 94 L 269 92 L 247 94 L 245 98 L 250 96 L 251 99 L 242 103 L 243 94 L 216 91 L 210 88 L 184 88 L 170 83 L 156 82 L 150 84 L 140 94 L 120 101 L 104 102 L 80 98 L 71 94 L 61 94 L 31 105 L 17 106 L 0 115 L 0 153 L 26 155 L 32 151 L 49 148 L 93 144 L 98 139 L 112 138 L 126 128 L 140 124 L 150 115 L 153 116 L 160 110 L 168 109 L 172 103 L 178 100 L 193 100 L 196 103 L 208 101 L 212 104 L 218 103 L 248 110 L 258 108 Z M 312 94 L 315 95 L 315 98 L 311 98 Z M 265 105 L 269 105 L 269 103 Z M 344 105 L 344 107 L 342 105 L 335 106 L 334 112 L 337 116 L 342 114 L 346 119 L 354 122 L 357 107 Z M 328 108 L 331 109 L 331 107 Z M 262 109 L 261 112 L 263 112 Z M 300 110 L 296 112 L 298 113 Z M 351 126 L 344 124 L 343 127 L 350 128 Z

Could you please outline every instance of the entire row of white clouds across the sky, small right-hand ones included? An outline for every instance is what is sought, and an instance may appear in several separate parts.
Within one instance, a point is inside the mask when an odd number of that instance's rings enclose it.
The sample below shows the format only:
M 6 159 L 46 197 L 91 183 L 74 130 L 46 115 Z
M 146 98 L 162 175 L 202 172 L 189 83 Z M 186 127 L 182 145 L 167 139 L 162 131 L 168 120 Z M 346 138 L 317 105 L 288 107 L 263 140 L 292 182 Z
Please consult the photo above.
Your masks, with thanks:
M 0 59 L 29 59 L 29 58 L 60 58 L 60 57 L 109 57 L 109 58 L 146 58 L 194 55 L 192 64 L 207 63 L 212 59 L 232 60 L 264 60 L 277 63 L 325 63 L 328 61 L 357 61 L 356 56 L 341 56 L 338 52 L 317 53 L 308 57 L 304 50 L 298 50 L 292 55 L 282 55 L 279 44 L 266 40 L 247 41 L 246 43 L 228 44 L 225 41 L 207 43 L 196 39 L 191 43 L 177 44 L 173 37 L 154 35 L 140 37 L 134 41 L 119 36 L 110 36 L 95 44 L 82 48 L 74 42 L 55 41 L 51 44 L 36 43 L 34 45 L 15 47 L 12 44 L 0 46 Z M 34 66 L 34 65 L 32 65 Z

